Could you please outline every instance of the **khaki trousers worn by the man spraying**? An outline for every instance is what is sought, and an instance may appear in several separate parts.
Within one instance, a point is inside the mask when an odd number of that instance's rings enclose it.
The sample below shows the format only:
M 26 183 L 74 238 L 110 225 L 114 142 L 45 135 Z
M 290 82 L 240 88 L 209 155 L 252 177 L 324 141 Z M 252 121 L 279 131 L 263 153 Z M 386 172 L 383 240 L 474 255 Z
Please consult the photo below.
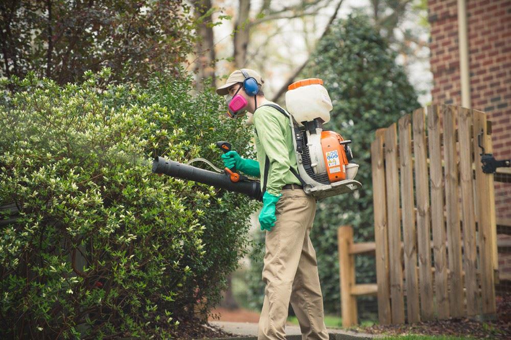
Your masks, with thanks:
M 289 303 L 303 339 L 328 339 L 316 252 L 309 237 L 316 200 L 302 189 L 284 189 L 275 209 L 277 222 L 266 232 L 258 339 L 285 339 Z

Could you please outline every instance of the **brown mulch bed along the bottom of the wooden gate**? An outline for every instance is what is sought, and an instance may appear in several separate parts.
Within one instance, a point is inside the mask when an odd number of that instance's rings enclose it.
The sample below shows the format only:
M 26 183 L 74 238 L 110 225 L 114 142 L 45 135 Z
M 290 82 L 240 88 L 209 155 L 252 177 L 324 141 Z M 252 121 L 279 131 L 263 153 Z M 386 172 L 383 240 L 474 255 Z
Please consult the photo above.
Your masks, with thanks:
M 436 320 L 404 325 L 374 325 L 358 327 L 357 330 L 370 334 L 388 335 L 450 335 L 475 338 L 511 338 L 511 294 L 497 297 L 497 320 L 478 321 L 468 318 Z

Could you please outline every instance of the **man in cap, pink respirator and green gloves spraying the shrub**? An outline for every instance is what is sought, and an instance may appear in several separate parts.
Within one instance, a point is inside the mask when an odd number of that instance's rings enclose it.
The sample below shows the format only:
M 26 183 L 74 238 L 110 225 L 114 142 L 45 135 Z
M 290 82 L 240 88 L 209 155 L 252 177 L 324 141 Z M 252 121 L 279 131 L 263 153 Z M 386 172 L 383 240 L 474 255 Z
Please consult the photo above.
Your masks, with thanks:
M 265 99 L 262 84 L 257 72 L 245 68 L 231 73 L 216 90 L 226 96 L 230 117 L 246 115 L 247 124 L 254 126 L 257 161 L 236 151 L 222 159 L 228 168 L 236 166 L 246 175 L 261 177 L 259 222 L 266 230 L 262 273 L 266 287 L 258 339 L 285 339 L 289 303 L 305 339 L 328 339 L 316 252 L 309 236 L 316 200 L 306 195 L 296 177 L 290 118 Z

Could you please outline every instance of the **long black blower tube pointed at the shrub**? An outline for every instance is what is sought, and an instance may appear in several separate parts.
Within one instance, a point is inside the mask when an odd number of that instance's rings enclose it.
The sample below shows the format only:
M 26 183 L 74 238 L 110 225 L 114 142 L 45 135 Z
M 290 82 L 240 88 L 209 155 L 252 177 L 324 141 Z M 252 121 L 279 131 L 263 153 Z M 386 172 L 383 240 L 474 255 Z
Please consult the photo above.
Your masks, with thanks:
M 156 157 L 153 160 L 152 171 L 155 174 L 180 178 L 184 180 L 213 185 L 216 188 L 243 193 L 251 199 L 262 201 L 261 184 L 259 181 L 241 180 L 232 182 L 227 175 L 207 171 L 192 165 Z

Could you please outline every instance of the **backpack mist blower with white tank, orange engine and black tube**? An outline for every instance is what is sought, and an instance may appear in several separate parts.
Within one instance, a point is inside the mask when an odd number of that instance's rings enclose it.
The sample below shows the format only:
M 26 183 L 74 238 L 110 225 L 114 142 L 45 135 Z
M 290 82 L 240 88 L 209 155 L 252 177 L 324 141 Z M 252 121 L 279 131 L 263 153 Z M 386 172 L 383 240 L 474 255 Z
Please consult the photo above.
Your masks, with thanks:
M 351 192 L 362 186 L 360 182 L 354 180 L 358 164 L 353 161 L 349 146 L 351 140 L 344 140 L 334 131 L 323 130 L 323 124 L 330 120 L 332 102 L 322 84 L 321 79 L 313 78 L 289 85 L 286 106 L 292 113 L 286 112 L 280 106 L 266 104 L 289 117 L 298 170 L 290 167 L 290 171 L 298 178 L 305 193 L 315 199 Z M 257 134 L 257 131 L 255 133 Z M 223 152 L 231 150 L 228 142 L 217 142 L 217 147 Z M 202 158 L 193 159 L 189 164 L 196 160 L 205 161 L 217 172 L 222 172 Z M 269 164 L 269 159 L 266 159 L 265 163 Z M 226 176 L 189 164 L 157 157 L 153 161 L 152 171 L 244 193 L 252 199 L 262 200 L 260 182 L 238 174 L 236 168 L 225 168 Z M 266 183 L 267 168 L 263 176 Z

